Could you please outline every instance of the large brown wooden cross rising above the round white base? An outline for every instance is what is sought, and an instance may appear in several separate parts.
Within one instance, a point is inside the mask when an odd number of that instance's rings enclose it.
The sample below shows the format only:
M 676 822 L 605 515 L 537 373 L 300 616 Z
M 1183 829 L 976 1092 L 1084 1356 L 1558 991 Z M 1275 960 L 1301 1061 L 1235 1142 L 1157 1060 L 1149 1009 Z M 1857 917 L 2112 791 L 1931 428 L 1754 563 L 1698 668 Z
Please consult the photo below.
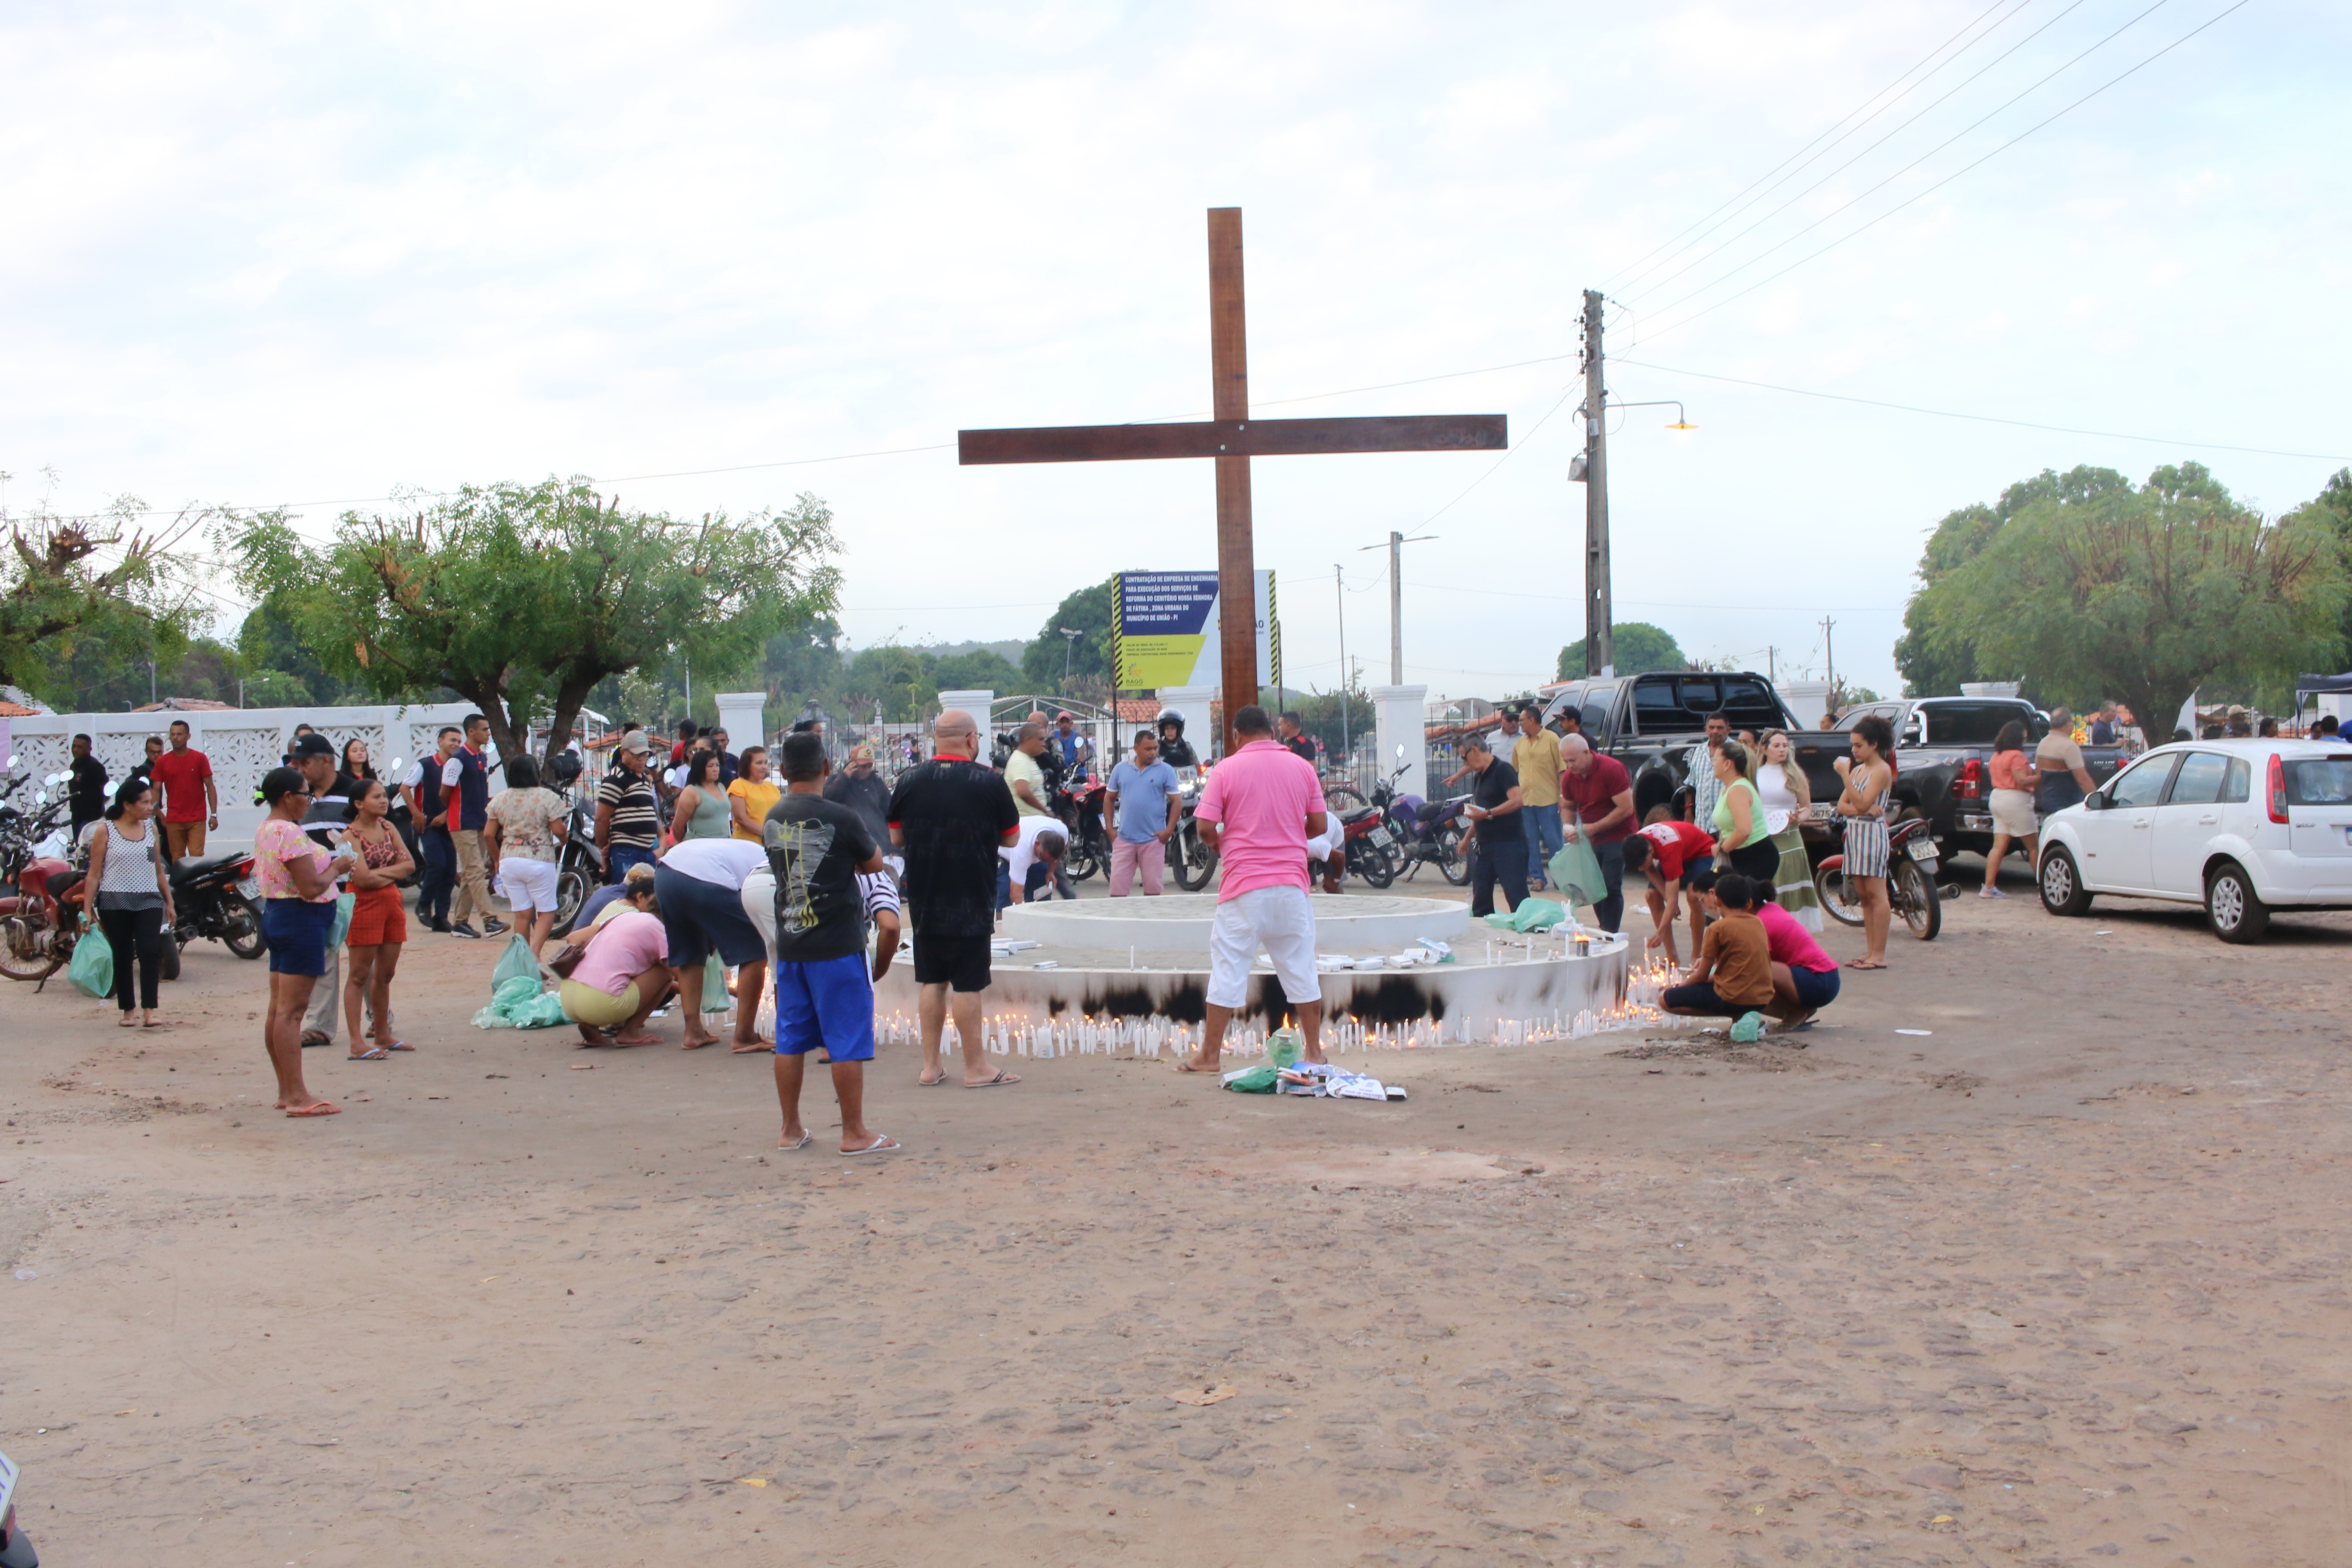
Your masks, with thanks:
M 1258 701 L 1256 545 L 1249 529 L 1249 458 L 1312 451 L 1501 451 L 1501 414 L 1395 418 L 1251 418 L 1249 343 L 1242 329 L 1242 209 L 1209 209 L 1209 369 L 1214 418 L 1183 425 L 1042 425 L 957 430 L 960 463 L 1105 463 L 1216 458 L 1218 665 L 1225 726 Z M 1341 670 L 1341 679 L 1345 679 Z

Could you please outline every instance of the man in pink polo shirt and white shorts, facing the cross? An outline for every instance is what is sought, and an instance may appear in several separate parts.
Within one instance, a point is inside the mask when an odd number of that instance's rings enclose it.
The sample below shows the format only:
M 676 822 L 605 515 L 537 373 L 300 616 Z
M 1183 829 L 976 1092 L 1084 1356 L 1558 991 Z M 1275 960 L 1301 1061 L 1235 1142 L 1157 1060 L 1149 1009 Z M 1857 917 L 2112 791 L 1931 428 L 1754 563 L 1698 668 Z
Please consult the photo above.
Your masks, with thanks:
M 1275 722 L 1256 703 L 1232 715 L 1232 738 L 1235 752 L 1209 771 L 1192 809 L 1202 842 L 1223 860 L 1223 879 L 1209 926 L 1209 1016 L 1200 1053 L 1178 1072 L 1216 1072 L 1225 1025 L 1249 1001 L 1258 947 L 1275 961 L 1282 999 L 1298 1016 L 1305 1058 L 1322 1060 L 1322 980 L 1308 905 L 1308 839 L 1324 830 L 1322 780 L 1275 741 Z

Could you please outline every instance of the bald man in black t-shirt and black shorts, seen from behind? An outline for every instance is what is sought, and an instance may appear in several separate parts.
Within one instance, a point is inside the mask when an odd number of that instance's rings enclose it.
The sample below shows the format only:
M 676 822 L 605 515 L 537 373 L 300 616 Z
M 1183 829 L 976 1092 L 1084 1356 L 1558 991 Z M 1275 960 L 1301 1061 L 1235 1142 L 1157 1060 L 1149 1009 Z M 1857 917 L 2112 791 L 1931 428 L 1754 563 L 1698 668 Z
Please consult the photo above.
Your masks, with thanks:
M 981 762 L 981 726 L 950 708 L 931 724 L 931 762 L 908 769 L 889 797 L 889 837 L 906 849 L 906 903 L 922 987 L 922 1081 L 938 1084 L 938 1039 L 953 1009 L 964 1046 L 964 1088 L 1018 1084 L 981 1060 L 981 992 L 997 933 L 997 849 L 1021 835 L 1004 776 Z M 953 992 L 953 997 L 950 997 Z

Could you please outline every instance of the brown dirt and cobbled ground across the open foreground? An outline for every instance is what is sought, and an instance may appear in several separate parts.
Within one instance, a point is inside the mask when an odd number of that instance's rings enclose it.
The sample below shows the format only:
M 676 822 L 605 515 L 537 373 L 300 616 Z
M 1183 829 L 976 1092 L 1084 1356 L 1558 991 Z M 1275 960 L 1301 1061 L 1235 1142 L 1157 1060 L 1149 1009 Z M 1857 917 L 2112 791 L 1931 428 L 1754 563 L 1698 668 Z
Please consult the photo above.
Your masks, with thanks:
M 858 1164 L 771 1147 L 767 1058 L 468 1027 L 496 943 L 414 947 L 414 1056 L 310 1053 L 325 1121 L 268 1112 L 259 964 L 193 950 L 160 1034 L 9 987 L 21 1519 L 54 1566 L 2343 1563 L 2352 917 L 2011 886 L 1802 1051 L 1378 1058 L 1402 1105 L 887 1051 Z

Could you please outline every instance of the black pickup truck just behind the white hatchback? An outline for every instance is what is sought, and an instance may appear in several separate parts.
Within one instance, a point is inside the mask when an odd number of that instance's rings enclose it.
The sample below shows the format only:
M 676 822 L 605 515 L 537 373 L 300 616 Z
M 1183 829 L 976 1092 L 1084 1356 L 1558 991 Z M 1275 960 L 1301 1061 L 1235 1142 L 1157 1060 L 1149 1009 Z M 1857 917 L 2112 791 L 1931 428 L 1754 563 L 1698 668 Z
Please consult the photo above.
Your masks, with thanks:
M 2016 696 L 1912 696 L 1851 708 L 1837 729 L 1797 736 L 1797 757 L 1813 799 L 1837 799 L 1837 757 L 1851 757 L 1849 731 L 1875 712 L 1896 731 L 1896 802 L 1929 820 L 1938 853 L 1992 849 L 1992 741 L 2011 719 L 2025 722 L 2025 750 L 2049 733 L 2039 708 Z M 2119 745 L 2084 745 L 2082 766 L 2093 785 L 2126 762 Z

